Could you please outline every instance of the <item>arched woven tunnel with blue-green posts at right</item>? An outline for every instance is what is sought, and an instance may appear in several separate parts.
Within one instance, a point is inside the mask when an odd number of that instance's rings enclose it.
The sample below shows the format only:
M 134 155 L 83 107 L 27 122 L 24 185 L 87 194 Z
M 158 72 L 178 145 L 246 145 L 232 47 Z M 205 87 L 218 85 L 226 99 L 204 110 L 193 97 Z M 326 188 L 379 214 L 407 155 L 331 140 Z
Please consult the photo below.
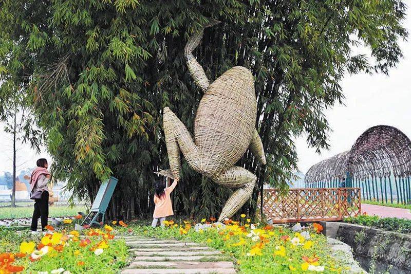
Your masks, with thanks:
M 313 165 L 306 187 L 361 188 L 361 197 L 382 203 L 411 204 L 411 141 L 393 126 L 366 130 L 351 150 Z

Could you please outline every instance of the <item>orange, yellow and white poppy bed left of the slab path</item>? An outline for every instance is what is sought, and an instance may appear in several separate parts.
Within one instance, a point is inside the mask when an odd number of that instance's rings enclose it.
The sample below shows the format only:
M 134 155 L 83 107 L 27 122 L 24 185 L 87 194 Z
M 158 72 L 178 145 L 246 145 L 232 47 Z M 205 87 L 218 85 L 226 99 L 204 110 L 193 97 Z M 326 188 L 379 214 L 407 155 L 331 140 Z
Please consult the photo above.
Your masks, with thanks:
M 38 235 L 0 228 L 0 273 L 113 273 L 126 265 L 125 242 L 114 240 L 124 228 L 105 225 L 79 232 L 73 227 L 67 219 L 61 228 L 47 226 Z

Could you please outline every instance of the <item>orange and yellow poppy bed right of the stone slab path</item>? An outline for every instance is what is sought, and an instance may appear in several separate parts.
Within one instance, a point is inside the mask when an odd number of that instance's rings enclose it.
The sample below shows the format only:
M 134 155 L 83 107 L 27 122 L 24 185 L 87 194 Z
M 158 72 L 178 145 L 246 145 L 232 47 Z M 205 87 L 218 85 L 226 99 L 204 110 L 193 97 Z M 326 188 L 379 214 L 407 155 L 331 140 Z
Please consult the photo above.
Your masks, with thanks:
M 245 215 L 240 222 L 211 224 L 205 219 L 201 222 L 166 221 L 164 229 L 149 226 L 133 229 L 144 236 L 207 244 L 234 257 L 238 270 L 244 273 L 339 273 L 345 269 L 342 262 L 331 257 L 325 236 L 317 233 L 322 230 L 319 224 L 311 226 L 308 233 L 300 233 L 285 227 L 254 225 Z

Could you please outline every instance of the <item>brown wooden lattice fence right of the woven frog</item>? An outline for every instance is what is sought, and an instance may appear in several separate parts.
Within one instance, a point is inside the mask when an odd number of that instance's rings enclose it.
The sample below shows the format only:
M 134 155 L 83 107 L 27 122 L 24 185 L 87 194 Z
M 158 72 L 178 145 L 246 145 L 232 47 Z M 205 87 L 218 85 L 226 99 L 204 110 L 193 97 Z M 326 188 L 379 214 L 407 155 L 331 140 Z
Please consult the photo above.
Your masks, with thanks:
M 341 221 L 343 217 L 361 214 L 361 191 L 360 188 L 301 188 L 280 195 L 277 189 L 266 189 L 263 213 L 274 224 Z

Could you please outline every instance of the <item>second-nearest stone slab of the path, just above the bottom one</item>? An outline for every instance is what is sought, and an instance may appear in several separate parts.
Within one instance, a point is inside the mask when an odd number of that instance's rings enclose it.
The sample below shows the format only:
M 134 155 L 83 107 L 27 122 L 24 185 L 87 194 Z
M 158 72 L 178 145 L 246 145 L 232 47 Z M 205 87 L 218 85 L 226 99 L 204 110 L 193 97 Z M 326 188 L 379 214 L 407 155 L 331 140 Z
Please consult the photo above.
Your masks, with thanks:
M 147 262 L 135 261 L 131 263 L 128 268 L 135 267 L 163 267 L 163 268 L 233 268 L 233 262 L 197 262 L 197 261 L 176 261 L 176 262 Z

